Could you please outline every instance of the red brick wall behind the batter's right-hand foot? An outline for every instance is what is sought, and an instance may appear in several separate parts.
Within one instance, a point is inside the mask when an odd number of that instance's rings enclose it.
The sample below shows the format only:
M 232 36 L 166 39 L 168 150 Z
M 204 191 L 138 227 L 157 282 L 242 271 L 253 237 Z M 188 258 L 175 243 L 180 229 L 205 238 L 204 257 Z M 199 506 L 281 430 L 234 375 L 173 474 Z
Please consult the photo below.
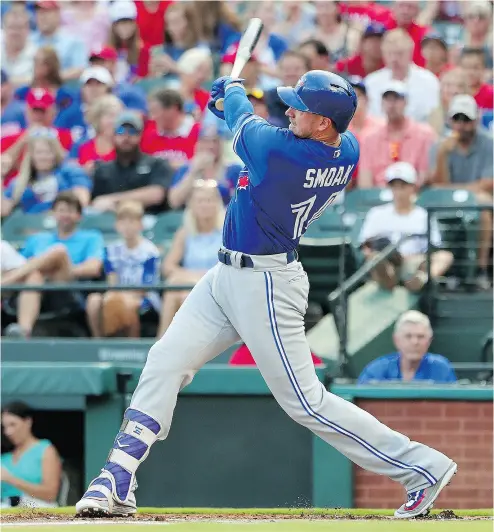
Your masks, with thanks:
M 492 403 L 359 400 L 358 406 L 410 439 L 430 445 L 458 464 L 458 474 L 435 508 L 492 508 Z M 355 506 L 397 508 L 404 490 L 386 477 L 354 468 Z

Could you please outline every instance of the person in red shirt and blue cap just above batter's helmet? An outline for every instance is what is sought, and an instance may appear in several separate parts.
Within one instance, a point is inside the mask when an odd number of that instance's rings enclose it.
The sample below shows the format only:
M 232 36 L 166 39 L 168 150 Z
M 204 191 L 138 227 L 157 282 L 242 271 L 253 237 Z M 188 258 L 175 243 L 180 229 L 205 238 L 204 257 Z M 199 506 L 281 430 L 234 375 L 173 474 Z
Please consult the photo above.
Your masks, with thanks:
M 358 53 L 352 57 L 342 58 L 336 62 L 335 70 L 343 76 L 360 76 L 384 68 L 381 43 L 386 28 L 382 24 L 370 24 L 365 29 Z

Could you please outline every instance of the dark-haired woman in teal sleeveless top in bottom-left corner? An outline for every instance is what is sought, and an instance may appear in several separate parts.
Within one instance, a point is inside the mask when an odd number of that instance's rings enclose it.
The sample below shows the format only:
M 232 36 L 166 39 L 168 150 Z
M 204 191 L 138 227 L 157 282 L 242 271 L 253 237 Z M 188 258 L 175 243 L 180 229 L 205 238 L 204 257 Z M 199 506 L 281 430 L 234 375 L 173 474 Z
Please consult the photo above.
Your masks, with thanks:
M 2 408 L 2 427 L 12 451 L 2 455 L 1 501 L 5 506 L 58 506 L 62 461 L 49 440 L 33 435 L 31 408 L 12 402 Z

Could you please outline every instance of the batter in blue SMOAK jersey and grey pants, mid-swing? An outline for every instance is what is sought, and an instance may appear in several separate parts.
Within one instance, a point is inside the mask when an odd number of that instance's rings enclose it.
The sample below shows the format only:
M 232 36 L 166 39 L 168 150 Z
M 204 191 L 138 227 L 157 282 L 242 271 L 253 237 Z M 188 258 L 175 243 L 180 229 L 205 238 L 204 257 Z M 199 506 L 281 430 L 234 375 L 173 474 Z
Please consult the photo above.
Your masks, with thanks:
M 359 466 L 401 483 L 408 497 L 396 517 L 425 514 L 457 465 L 329 393 L 316 376 L 304 334 L 309 282 L 295 250 L 358 163 L 358 143 L 346 131 L 355 92 L 335 74 L 310 71 L 294 88 L 278 88 L 290 119 L 281 129 L 253 114 L 242 81 L 219 78 L 209 103 L 232 130 L 234 150 L 245 163 L 228 207 L 219 263 L 150 349 L 120 432 L 77 512 L 136 512 L 137 468 L 151 445 L 167 437 L 179 391 L 242 339 L 290 417 Z M 215 108 L 218 98 L 225 98 L 224 113 Z

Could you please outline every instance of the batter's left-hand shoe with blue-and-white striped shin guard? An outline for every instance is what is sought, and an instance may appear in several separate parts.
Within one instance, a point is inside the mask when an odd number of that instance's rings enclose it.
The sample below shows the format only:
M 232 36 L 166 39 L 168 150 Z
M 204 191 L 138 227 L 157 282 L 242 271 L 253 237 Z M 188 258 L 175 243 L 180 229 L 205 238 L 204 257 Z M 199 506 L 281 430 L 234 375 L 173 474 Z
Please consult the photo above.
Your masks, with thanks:
M 150 416 L 134 409 L 125 412 L 106 464 L 76 504 L 77 515 L 128 516 L 137 512 L 135 473 L 160 430 L 159 423 Z

